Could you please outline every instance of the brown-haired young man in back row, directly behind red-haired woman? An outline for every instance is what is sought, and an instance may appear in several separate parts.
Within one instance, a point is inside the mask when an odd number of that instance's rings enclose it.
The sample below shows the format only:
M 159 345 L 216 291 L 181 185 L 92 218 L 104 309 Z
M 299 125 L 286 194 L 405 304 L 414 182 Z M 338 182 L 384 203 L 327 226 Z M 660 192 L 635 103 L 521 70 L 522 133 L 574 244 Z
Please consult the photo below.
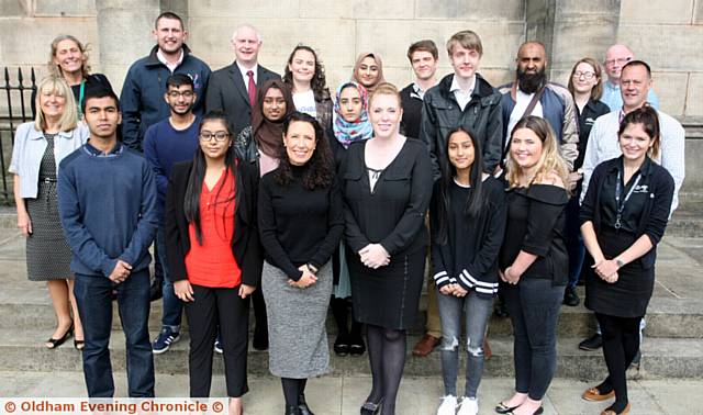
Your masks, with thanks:
M 408 137 L 420 137 L 422 121 L 422 101 L 425 92 L 437 85 L 437 63 L 439 52 L 433 41 L 417 41 L 408 48 L 408 59 L 415 72 L 415 80 L 400 91 L 403 119 L 400 127 Z

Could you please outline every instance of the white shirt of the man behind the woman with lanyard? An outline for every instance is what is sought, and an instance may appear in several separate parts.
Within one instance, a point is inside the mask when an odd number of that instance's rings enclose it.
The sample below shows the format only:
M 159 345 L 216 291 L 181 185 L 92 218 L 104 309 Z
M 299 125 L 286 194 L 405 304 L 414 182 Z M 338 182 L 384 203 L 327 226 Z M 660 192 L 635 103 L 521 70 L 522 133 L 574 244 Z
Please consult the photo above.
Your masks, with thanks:
M 595 166 L 603 161 L 620 157 L 622 152 L 617 141 L 617 130 L 620 130 L 622 110 L 611 111 L 595 120 L 589 142 L 585 146 L 583 158 L 583 187 L 581 188 L 581 200 L 585 197 L 589 181 Z M 673 200 L 671 201 L 671 213 L 679 205 L 679 189 L 683 184 L 685 177 L 685 131 L 681 123 L 672 116 L 657 111 L 659 115 L 659 128 L 661 130 L 661 145 L 659 147 L 659 160 L 655 160 L 661 167 L 669 170 L 673 177 Z

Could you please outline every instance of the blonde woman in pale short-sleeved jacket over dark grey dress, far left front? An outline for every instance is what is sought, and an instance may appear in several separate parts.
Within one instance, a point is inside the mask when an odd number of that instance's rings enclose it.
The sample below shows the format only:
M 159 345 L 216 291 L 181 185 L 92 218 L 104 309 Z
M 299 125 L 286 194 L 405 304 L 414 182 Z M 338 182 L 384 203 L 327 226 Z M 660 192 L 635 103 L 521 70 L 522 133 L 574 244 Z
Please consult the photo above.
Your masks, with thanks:
M 10 172 L 14 175 L 18 227 L 26 237 L 30 281 L 46 281 L 57 326 L 46 341 L 54 349 L 74 330 L 76 349 L 82 350 L 83 333 L 74 299 L 71 253 L 64 237 L 56 204 L 56 177 L 60 160 L 88 139 L 78 123 L 70 87 L 57 76 L 40 82 L 36 120 L 18 127 Z M 71 310 L 74 318 L 71 319 Z

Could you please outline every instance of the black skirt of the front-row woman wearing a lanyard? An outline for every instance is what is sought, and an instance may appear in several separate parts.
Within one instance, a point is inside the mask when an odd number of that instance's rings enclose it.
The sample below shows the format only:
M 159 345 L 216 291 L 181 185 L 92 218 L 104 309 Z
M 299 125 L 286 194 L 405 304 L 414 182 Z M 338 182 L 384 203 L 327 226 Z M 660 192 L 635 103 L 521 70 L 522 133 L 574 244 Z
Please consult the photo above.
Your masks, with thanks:
M 604 228 L 598 243 L 605 258 L 614 258 L 632 246 L 637 238 L 627 232 Z M 617 271 L 617 281 L 603 281 L 591 268 L 593 258 L 588 256 L 585 279 L 585 306 L 596 313 L 616 317 L 641 317 L 655 288 L 655 267 L 645 269 L 636 259 Z

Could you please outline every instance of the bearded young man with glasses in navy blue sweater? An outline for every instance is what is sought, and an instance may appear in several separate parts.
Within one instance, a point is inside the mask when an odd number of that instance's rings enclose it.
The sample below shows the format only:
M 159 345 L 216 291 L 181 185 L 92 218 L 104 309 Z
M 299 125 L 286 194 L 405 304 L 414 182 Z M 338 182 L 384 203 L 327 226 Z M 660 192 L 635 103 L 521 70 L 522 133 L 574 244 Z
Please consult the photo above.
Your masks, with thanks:
M 174 164 L 193 158 L 198 148 L 199 117 L 193 114 L 198 100 L 193 80 L 183 74 L 176 74 L 166 80 L 164 99 L 171 109 L 168 119 L 153 124 L 144 136 L 144 156 L 149 161 L 156 177 L 159 206 L 159 228 L 156 234 L 157 255 L 164 270 L 164 311 L 161 333 L 152 345 L 154 354 L 167 351 L 172 343 L 180 339 L 182 303 L 174 292 L 166 260 L 166 235 L 164 234 L 164 204 L 168 178 Z

